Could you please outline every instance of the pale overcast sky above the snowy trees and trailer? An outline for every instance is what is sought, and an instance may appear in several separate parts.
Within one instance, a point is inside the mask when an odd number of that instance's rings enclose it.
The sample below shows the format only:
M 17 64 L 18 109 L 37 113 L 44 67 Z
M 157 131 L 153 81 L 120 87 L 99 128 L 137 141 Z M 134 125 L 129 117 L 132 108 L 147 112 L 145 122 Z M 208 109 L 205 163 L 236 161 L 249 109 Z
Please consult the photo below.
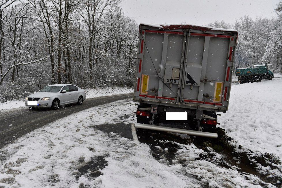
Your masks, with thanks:
M 280 0 L 124 0 L 126 16 L 137 23 L 205 25 L 214 21 L 234 23 L 236 18 L 276 16 L 274 9 Z

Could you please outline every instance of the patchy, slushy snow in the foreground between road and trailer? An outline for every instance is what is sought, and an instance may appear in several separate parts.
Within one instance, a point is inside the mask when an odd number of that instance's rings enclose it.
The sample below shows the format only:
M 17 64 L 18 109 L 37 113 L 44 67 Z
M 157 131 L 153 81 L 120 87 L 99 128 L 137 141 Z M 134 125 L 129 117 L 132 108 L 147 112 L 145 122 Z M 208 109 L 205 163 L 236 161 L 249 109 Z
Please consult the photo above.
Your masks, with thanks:
M 216 162 L 222 158 L 219 154 L 204 159 L 201 156 L 207 153 L 194 144 L 178 144 L 169 164 L 154 158 L 147 144 L 97 130 L 121 122 L 130 127 L 135 109 L 132 101 L 117 101 L 67 116 L 19 138 L 0 150 L 0 187 L 272 186 L 236 167 L 221 167 Z M 166 146 L 169 141 L 160 142 Z M 80 171 L 91 161 L 99 163 L 99 158 L 106 161 L 104 167 L 94 169 L 99 176 Z

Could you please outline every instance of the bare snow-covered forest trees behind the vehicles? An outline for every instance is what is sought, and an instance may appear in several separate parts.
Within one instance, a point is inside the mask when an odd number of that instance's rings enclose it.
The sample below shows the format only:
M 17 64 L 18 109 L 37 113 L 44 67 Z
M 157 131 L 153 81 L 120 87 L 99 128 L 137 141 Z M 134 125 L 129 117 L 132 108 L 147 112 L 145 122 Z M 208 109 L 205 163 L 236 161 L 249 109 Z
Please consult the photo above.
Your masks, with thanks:
M 0 1 L 0 102 L 21 99 L 49 84 L 134 85 L 139 23 L 124 15 L 120 3 Z M 282 1 L 275 11 L 272 19 L 243 16 L 235 23 L 207 26 L 238 31 L 235 67 L 272 63 L 282 73 Z

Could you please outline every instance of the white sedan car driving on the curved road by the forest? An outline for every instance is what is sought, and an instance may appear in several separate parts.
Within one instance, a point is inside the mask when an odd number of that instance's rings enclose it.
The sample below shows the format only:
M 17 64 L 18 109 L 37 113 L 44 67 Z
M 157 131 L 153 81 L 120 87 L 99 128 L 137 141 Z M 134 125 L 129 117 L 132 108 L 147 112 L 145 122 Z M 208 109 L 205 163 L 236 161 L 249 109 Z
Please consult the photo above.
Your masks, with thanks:
M 76 85 L 55 84 L 48 85 L 37 93 L 25 98 L 25 106 L 29 108 L 53 108 L 58 109 L 60 105 L 77 103 L 81 105 L 85 100 L 85 91 Z

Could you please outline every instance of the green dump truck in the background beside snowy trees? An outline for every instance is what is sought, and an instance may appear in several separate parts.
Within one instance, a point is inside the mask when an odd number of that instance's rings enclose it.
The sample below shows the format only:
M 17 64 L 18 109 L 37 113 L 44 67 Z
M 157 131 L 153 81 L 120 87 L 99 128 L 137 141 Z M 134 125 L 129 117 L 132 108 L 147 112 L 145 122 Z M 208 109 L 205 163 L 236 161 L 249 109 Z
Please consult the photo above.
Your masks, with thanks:
M 236 76 L 240 83 L 260 82 L 264 79 L 272 80 L 273 68 L 272 64 L 258 64 L 247 68 L 236 68 Z

